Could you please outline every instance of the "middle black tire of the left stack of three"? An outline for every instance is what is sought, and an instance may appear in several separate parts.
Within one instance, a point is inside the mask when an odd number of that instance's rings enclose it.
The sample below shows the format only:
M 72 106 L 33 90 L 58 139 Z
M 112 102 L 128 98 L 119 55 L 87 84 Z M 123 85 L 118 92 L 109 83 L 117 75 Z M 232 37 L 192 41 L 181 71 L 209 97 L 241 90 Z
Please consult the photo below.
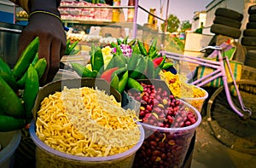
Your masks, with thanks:
M 233 20 L 228 17 L 217 15 L 215 16 L 213 23 L 224 25 L 224 26 L 231 26 L 236 29 L 240 29 L 241 21 Z

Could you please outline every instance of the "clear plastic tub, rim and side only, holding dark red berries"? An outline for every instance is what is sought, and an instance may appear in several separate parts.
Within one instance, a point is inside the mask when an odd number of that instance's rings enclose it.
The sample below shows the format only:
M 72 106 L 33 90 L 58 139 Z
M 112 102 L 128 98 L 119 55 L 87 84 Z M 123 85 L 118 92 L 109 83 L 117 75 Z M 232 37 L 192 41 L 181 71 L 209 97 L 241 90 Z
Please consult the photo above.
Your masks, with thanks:
M 134 168 L 182 167 L 196 127 L 201 124 L 201 113 L 188 103 L 183 103 L 195 114 L 195 124 L 180 128 L 163 128 L 142 123 L 145 140 L 137 151 Z

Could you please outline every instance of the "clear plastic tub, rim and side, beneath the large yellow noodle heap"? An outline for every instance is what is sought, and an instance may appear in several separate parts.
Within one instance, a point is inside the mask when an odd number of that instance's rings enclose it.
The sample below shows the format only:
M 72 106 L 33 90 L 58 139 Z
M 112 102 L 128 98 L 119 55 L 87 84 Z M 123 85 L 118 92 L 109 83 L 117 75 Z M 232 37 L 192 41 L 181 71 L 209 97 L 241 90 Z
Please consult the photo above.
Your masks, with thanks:
M 107 157 L 83 157 L 72 154 L 65 154 L 47 146 L 42 142 L 35 132 L 35 122 L 30 125 L 30 135 L 36 144 L 36 166 L 37 167 L 86 167 L 86 168 L 128 168 L 132 167 L 137 150 L 142 146 L 144 130 L 139 126 L 141 136 L 137 145 L 122 154 L 115 154 Z

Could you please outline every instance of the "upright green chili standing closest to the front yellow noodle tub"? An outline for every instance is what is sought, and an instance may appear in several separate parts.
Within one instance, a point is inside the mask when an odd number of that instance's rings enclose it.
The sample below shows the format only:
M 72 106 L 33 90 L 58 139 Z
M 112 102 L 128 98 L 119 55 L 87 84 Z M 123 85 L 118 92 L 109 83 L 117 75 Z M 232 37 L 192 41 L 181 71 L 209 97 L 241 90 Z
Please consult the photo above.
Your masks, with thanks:
M 30 64 L 27 69 L 27 77 L 25 82 L 25 89 L 23 95 L 24 107 L 26 111 L 26 117 L 32 118 L 32 108 L 34 106 L 36 97 L 39 91 L 39 78 L 38 72 L 35 67 Z

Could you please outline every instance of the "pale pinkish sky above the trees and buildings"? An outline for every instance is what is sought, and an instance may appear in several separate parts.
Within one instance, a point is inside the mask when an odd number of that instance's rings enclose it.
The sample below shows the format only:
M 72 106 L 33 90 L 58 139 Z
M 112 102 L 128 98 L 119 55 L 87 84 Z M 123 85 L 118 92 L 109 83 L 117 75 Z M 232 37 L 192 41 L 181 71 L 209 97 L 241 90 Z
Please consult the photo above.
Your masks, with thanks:
M 167 0 L 139 0 L 139 5 L 149 11 L 150 8 L 156 9 L 157 16 L 160 17 L 160 3 L 163 4 L 163 15 L 166 19 Z M 174 14 L 180 21 L 189 20 L 192 22 L 194 12 L 205 10 L 208 3 L 212 0 L 169 0 L 168 14 Z M 128 0 L 121 0 L 121 5 L 127 5 Z M 143 25 L 148 21 L 148 14 L 142 9 L 138 9 L 137 23 Z

